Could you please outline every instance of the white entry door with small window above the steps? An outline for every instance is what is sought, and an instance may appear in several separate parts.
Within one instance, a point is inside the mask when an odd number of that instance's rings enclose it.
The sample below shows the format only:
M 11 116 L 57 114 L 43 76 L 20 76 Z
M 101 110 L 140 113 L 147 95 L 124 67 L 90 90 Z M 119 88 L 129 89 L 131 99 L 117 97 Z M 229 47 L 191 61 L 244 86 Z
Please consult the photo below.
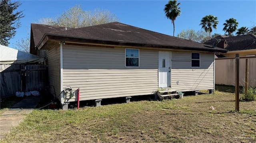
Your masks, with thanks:
M 158 53 L 158 87 L 170 87 L 170 52 Z

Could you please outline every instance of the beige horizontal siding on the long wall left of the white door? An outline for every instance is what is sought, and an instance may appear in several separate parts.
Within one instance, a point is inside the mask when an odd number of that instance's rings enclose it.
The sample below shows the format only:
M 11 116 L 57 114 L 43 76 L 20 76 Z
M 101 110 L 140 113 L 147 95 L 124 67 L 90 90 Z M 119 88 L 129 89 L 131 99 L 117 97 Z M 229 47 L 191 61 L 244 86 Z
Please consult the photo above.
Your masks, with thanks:
M 158 51 L 140 49 L 139 66 L 125 67 L 125 48 L 64 45 L 63 87 L 80 88 L 80 100 L 154 94 Z

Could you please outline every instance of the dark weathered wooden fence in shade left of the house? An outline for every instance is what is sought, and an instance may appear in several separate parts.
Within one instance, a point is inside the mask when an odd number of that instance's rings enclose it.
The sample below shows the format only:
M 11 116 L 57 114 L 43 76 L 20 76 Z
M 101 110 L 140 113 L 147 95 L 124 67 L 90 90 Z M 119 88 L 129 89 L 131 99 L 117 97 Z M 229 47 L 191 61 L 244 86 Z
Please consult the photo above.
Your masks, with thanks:
M 14 96 L 17 91 L 41 91 L 47 83 L 46 65 L 0 65 L 0 96 Z

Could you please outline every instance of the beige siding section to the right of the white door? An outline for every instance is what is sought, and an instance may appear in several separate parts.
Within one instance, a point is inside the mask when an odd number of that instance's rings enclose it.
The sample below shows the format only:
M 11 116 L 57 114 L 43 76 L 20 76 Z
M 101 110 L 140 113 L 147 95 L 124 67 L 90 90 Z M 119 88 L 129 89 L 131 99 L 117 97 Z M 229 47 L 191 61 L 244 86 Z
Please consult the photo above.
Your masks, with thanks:
M 214 89 L 213 53 L 200 53 L 200 67 L 191 67 L 191 52 L 172 52 L 171 61 L 172 89 L 177 91 Z

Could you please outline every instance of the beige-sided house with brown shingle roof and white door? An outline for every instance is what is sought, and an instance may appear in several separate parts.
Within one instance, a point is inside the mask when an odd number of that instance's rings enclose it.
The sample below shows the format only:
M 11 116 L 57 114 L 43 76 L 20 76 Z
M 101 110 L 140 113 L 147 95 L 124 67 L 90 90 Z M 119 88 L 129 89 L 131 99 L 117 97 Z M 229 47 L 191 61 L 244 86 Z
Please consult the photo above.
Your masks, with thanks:
M 31 24 L 30 53 L 45 57 L 56 94 L 70 85 L 80 100 L 214 89 L 222 48 L 112 22 L 76 29 Z M 68 97 L 60 96 L 62 104 Z M 72 98 L 69 101 L 76 101 Z

